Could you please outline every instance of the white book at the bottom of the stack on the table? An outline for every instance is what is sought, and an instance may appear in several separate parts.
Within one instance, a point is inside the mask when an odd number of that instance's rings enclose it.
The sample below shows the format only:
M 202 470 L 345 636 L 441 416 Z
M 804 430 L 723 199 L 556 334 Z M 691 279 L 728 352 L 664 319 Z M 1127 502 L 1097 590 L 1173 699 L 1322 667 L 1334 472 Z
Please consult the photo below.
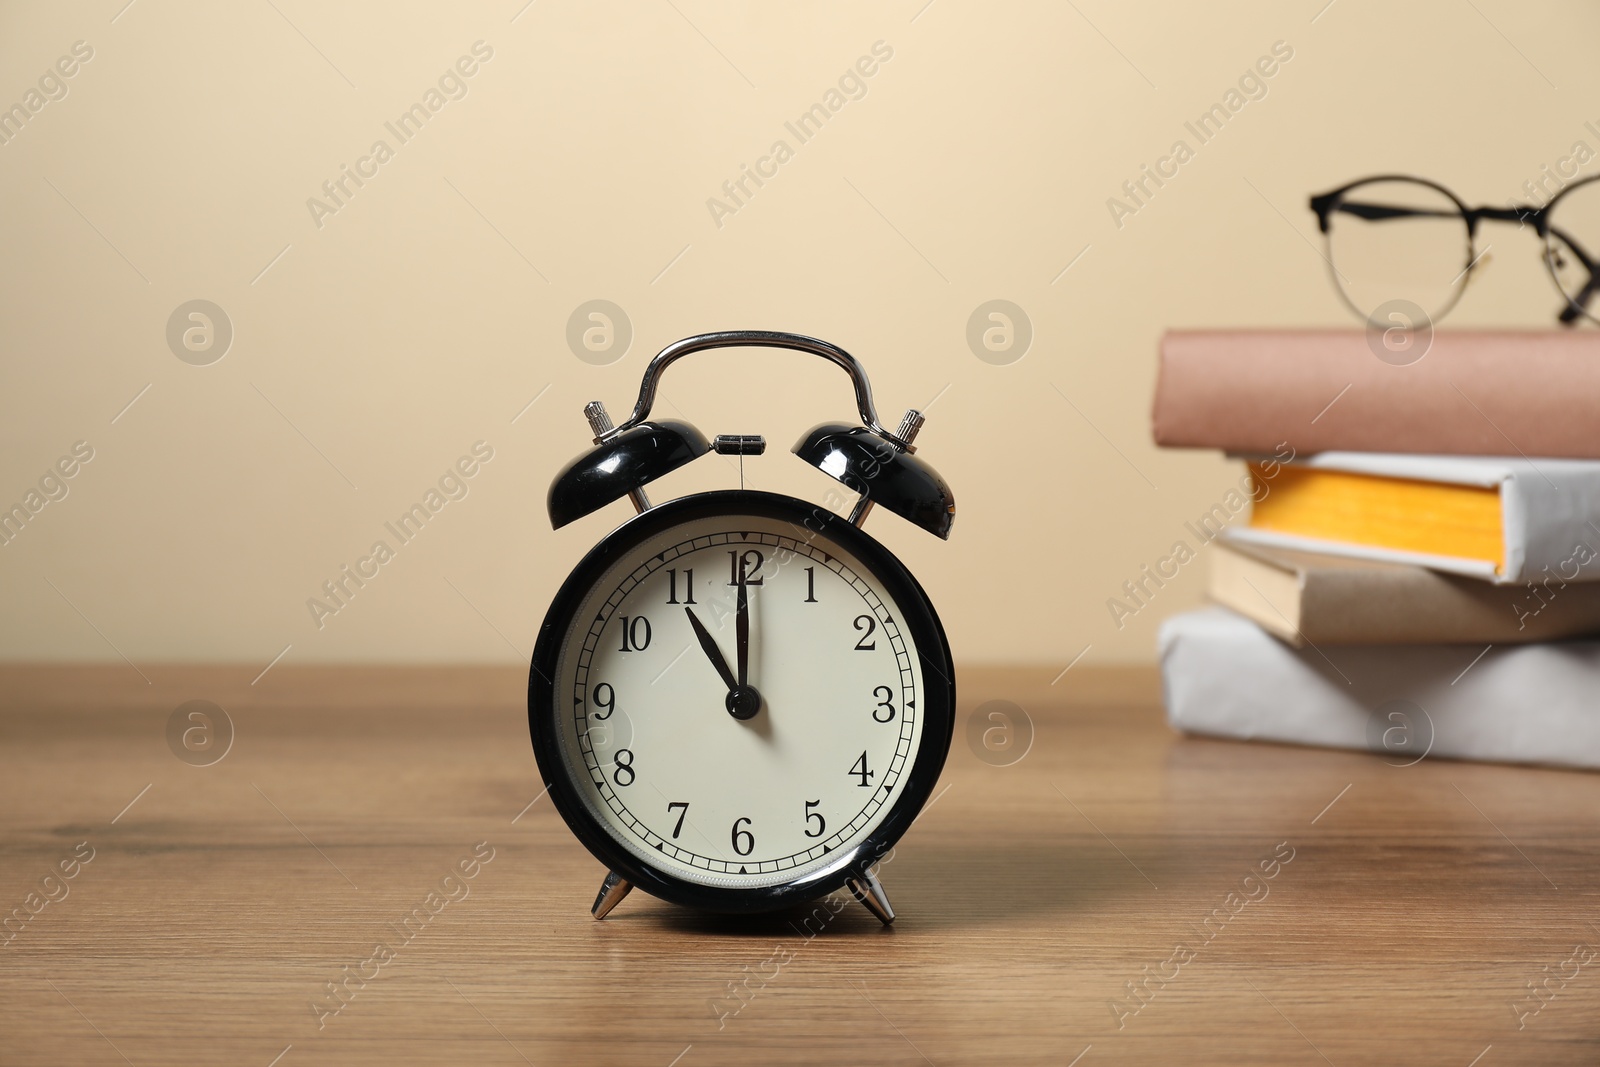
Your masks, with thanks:
M 1184 733 L 1600 768 L 1600 641 L 1290 648 L 1226 608 L 1162 624 L 1166 720 Z

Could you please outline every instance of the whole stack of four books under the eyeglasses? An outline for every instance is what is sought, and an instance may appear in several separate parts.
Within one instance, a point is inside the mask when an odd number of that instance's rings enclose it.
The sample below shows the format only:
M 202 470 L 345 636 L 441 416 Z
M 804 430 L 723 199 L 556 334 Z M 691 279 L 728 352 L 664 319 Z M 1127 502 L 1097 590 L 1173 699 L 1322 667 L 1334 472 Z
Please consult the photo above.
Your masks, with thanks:
M 1154 430 L 1250 472 L 1162 625 L 1173 726 L 1600 768 L 1600 334 L 1170 333 Z

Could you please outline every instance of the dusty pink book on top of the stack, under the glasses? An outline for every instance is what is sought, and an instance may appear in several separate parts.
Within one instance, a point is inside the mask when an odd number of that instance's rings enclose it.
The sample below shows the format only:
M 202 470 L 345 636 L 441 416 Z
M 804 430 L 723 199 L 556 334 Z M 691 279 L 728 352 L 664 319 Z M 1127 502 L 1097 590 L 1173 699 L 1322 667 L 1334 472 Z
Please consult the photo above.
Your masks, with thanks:
M 1600 334 L 1438 333 L 1386 363 L 1360 330 L 1181 330 L 1162 339 L 1155 443 L 1600 459 Z

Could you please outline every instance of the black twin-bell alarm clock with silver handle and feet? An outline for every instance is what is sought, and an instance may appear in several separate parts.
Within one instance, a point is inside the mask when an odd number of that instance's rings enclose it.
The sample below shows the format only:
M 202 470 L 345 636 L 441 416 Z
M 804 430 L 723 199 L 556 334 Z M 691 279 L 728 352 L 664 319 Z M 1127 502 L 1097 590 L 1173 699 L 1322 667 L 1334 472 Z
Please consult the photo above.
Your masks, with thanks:
M 794 453 L 859 494 L 851 514 L 750 490 L 651 504 L 645 486 L 707 453 L 758 456 L 651 419 L 662 373 L 693 352 L 787 349 L 843 368 L 859 424 L 822 422 Z M 790 333 L 677 341 L 632 414 L 584 408 L 594 446 L 555 475 L 550 523 L 635 509 L 573 568 L 539 629 L 528 728 L 562 817 L 608 873 L 590 913 L 632 888 L 680 905 L 765 912 L 848 886 L 885 925 L 877 865 L 926 803 L 950 749 L 955 670 L 933 603 L 861 530 L 883 507 L 949 537 L 955 499 L 894 432 L 866 370 Z M 742 482 L 741 482 L 742 483 Z

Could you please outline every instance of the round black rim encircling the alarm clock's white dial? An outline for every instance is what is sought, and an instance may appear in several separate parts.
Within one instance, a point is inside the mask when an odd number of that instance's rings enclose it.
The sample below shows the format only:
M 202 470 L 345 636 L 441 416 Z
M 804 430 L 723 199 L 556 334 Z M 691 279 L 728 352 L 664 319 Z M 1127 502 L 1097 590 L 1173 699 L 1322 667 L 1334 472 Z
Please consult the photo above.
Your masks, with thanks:
M 808 533 L 818 534 L 853 553 L 883 584 L 885 592 L 899 606 L 901 625 L 915 643 L 922 661 L 923 685 L 922 744 L 910 769 L 902 777 L 899 797 L 883 821 L 866 840 L 853 848 L 840 849 L 840 856 L 821 870 L 792 881 L 754 888 L 707 886 L 640 861 L 613 838 L 589 811 L 576 782 L 566 773 L 555 728 L 555 717 L 565 710 L 565 701 L 558 702 L 555 694 L 555 665 L 562 654 L 562 643 L 571 632 L 574 613 L 600 576 L 640 544 L 670 526 L 701 518 L 731 518 L 736 515 L 786 520 L 794 523 L 797 539 L 806 539 Z M 838 889 L 850 878 L 859 877 L 877 864 L 910 829 L 912 821 L 933 793 L 950 750 L 950 739 L 955 733 L 955 667 L 950 662 L 950 645 L 944 637 L 944 625 L 939 622 L 928 593 L 906 569 L 906 565 L 875 537 L 834 512 L 792 496 L 755 490 L 718 490 L 678 498 L 635 515 L 606 534 L 573 568 L 555 593 L 533 648 L 533 664 L 528 672 L 528 733 L 533 737 L 533 755 L 539 763 L 539 774 L 549 785 L 555 809 L 562 813 L 566 825 L 578 835 L 584 848 L 608 869 L 627 878 L 635 888 L 672 904 L 723 913 L 770 912 Z

